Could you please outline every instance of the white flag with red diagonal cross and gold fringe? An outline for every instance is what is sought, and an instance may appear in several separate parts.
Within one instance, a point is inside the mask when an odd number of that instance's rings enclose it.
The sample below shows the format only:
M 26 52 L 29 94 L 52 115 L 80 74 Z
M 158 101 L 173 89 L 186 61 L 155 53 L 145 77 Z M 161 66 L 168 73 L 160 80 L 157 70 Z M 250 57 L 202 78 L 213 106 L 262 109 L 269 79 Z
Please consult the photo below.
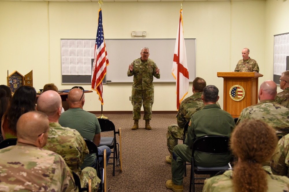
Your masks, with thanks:
M 182 9 L 180 10 L 179 26 L 175 45 L 172 74 L 176 80 L 177 110 L 189 90 L 189 72 L 187 66 L 186 46 L 183 32 Z

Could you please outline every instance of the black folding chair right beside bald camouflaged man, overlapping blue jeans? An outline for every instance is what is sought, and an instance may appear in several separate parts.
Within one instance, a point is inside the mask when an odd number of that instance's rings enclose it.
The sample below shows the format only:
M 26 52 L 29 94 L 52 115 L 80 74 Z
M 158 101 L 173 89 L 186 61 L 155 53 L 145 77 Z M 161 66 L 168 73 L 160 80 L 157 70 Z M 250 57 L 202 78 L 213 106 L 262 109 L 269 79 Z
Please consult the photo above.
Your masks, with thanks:
M 101 183 L 99 184 L 99 190 L 103 191 L 104 190 L 104 185 L 106 186 L 106 178 L 104 177 L 104 172 L 106 172 L 106 169 L 104 170 L 104 168 L 100 168 L 99 157 L 103 157 L 104 154 L 102 154 L 102 155 L 98 154 L 97 146 L 96 146 L 96 144 L 93 141 L 90 141 L 88 139 L 84 139 L 84 141 L 85 141 L 86 146 L 87 146 L 87 148 L 89 150 L 89 154 L 95 154 L 96 155 L 95 158 L 96 158 L 97 161 L 94 164 L 93 168 L 96 169 L 98 178 L 101 178 L 101 175 L 102 175 L 102 180 L 101 180 Z M 106 160 L 106 157 L 105 157 L 105 159 L 103 157 L 103 160 Z M 104 164 L 104 165 L 106 165 L 106 164 Z M 101 169 L 103 170 L 103 172 L 100 171 Z

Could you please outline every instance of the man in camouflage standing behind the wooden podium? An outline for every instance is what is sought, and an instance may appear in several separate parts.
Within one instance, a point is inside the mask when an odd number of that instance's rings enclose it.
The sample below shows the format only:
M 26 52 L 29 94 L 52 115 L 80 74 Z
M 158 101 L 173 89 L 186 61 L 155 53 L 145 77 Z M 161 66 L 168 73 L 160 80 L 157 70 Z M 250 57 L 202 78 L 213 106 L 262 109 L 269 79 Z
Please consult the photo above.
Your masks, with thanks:
M 249 57 L 249 52 L 250 50 L 248 48 L 244 48 L 242 50 L 243 59 L 238 61 L 234 72 L 257 72 L 259 73 L 258 63 L 257 61 Z

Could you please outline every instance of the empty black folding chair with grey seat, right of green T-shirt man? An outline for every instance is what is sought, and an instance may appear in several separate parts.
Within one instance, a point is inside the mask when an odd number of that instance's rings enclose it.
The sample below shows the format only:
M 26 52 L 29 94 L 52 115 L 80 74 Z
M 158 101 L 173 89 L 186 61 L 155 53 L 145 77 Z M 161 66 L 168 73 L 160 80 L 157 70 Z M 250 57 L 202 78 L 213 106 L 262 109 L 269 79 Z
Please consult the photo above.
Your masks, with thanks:
M 113 163 L 108 163 L 113 165 L 113 172 L 112 176 L 114 176 L 115 172 L 115 164 L 116 166 L 121 166 L 122 171 L 122 162 L 121 162 L 121 129 L 118 129 L 118 131 L 115 131 L 115 126 L 112 123 L 112 121 L 104 118 L 99 118 L 99 125 L 101 132 L 108 132 L 113 131 L 114 137 L 101 137 L 99 146 L 108 146 L 110 149 L 113 149 L 111 153 L 113 153 L 113 157 L 110 157 L 110 159 L 113 159 Z M 119 135 L 119 143 L 116 142 L 116 134 Z M 118 144 L 118 149 L 116 148 L 116 144 Z

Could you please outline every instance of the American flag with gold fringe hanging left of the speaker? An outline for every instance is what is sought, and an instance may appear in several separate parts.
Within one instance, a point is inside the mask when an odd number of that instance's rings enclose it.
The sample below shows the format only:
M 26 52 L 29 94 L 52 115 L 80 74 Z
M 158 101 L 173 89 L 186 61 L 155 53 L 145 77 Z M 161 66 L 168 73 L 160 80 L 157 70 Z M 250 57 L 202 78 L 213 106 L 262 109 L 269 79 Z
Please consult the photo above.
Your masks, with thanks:
M 98 27 L 95 41 L 94 61 L 92 66 L 91 89 L 97 91 L 101 105 L 103 105 L 102 80 L 106 74 L 108 56 L 105 48 L 105 41 L 102 27 L 101 9 L 98 11 Z

